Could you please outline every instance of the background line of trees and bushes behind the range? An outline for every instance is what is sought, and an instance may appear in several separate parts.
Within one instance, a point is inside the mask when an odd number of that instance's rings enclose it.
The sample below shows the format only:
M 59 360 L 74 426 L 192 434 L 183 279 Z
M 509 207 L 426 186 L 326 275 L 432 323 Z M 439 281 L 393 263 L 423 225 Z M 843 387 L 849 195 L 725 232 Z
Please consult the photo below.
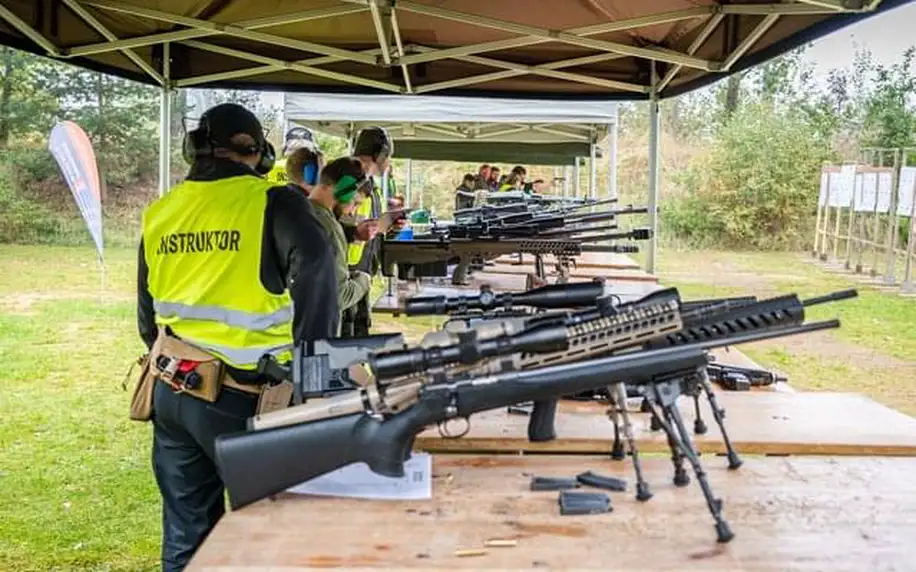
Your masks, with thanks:
M 832 70 L 825 81 L 816 81 L 803 52 L 662 102 L 666 239 L 694 246 L 803 247 L 812 236 L 825 161 L 855 160 L 868 147 L 916 147 L 914 49 L 889 66 L 860 49 L 851 69 Z M 258 92 L 207 90 L 205 96 L 211 105 L 236 101 L 252 108 L 274 144 L 281 144 L 280 110 Z M 190 116 L 199 114 L 191 110 L 194 100 L 186 90 L 174 95 L 173 177 L 186 169 L 180 141 Z M 48 133 L 62 119 L 82 126 L 93 143 L 106 183 L 106 228 L 133 228 L 139 210 L 155 196 L 159 105 L 156 88 L 0 47 L 0 242 L 88 239 L 78 225 L 67 226 L 78 215 L 46 148 Z M 647 105 L 622 104 L 620 120 L 622 200 L 644 203 Z M 332 137 L 320 141 L 329 155 L 345 149 Z M 461 174 L 475 167 L 415 162 L 414 182 L 425 187 L 424 203 L 446 216 L 442 211 L 450 208 Z M 603 168 L 599 180 L 606 176 Z M 552 177 L 552 169 L 529 171 Z

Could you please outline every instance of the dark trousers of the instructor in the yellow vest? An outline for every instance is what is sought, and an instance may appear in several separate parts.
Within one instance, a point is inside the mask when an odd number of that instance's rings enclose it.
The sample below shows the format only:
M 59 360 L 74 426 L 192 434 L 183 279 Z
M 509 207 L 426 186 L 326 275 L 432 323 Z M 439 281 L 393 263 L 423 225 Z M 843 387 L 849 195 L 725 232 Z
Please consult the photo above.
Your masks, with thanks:
M 153 471 L 162 496 L 162 571 L 180 572 L 226 510 L 214 462 L 218 435 L 244 431 L 258 399 L 223 389 L 215 403 L 158 381 L 153 392 Z

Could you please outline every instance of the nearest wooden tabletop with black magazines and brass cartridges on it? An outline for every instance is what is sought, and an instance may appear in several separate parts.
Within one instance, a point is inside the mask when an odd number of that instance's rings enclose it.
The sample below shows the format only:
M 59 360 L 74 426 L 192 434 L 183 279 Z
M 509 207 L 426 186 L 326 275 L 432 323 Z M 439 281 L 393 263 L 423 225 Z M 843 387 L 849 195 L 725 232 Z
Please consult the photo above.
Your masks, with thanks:
M 703 459 L 735 539 L 717 545 L 696 482 L 671 483 L 665 457 L 643 461 L 652 492 L 634 499 L 632 466 L 607 457 L 436 456 L 433 500 L 281 495 L 227 514 L 188 572 L 346 569 L 912 569 L 916 459 L 748 457 L 737 471 Z M 557 492 L 531 475 L 592 470 L 624 478 L 613 512 L 559 516 Z M 356 533 L 354 534 L 354 531 Z M 491 539 L 516 546 L 484 548 Z M 476 557 L 457 550 L 483 549 Z

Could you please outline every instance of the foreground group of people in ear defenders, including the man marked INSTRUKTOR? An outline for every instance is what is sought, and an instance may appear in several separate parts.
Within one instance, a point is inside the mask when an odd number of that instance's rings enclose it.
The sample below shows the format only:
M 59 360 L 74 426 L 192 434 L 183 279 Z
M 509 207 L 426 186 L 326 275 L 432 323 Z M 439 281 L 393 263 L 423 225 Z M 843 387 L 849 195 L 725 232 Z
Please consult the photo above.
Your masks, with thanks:
M 138 261 L 145 367 L 159 368 L 140 420 L 153 425 L 167 572 L 184 569 L 225 510 L 215 439 L 277 401 L 265 399 L 283 385 L 265 373 L 265 356 L 288 363 L 296 344 L 368 335 L 371 277 L 391 226 L 375 178 L 394 146 L 370 127 L 350 156 L 327 160 L 295 128 L 277 160 L 254 114 L 221 104 L 183 151 L 188 175 L 144 211 Z M 207 360 L 187 358 L 201 352 Z M 196 369 L 182 371 L 189 363 Z

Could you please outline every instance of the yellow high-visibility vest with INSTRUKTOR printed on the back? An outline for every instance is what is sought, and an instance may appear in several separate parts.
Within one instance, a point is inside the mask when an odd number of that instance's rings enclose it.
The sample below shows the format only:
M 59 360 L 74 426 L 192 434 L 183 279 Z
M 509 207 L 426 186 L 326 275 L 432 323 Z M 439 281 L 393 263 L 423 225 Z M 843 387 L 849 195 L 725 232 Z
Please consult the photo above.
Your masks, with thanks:
M 288 291 L 261 283 L 267 191 L 254 175 L 185 181 L 143 212 L 143 247 L 156 323 L 227 364 L 292 359 Z

